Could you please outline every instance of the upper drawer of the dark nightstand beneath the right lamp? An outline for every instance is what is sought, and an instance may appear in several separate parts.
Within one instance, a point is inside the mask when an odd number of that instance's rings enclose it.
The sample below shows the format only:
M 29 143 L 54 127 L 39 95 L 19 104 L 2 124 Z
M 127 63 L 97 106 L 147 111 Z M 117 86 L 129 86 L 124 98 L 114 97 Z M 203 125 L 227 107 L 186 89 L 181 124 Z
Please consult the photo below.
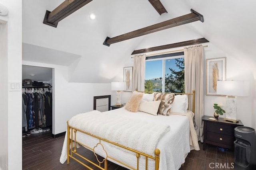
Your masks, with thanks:
M 206 130 L 208 132 L 220 133 L 224 135 L 234 136 L 234 127 L 230 125 L 220 124 L 220 123 L 211 123 L 208 122 L 206 125 Z

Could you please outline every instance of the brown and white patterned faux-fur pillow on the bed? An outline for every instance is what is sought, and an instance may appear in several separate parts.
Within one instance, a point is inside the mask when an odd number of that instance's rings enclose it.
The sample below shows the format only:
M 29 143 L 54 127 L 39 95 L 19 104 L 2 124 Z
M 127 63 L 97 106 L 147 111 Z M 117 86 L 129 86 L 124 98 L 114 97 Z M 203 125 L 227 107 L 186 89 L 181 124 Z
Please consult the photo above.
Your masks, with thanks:
M 158 114 L 168 116 L 171 113 L 172 103 L 174 101 L 174 94 L 155 93 L 154 101 L 161 100 L 158 108 Z

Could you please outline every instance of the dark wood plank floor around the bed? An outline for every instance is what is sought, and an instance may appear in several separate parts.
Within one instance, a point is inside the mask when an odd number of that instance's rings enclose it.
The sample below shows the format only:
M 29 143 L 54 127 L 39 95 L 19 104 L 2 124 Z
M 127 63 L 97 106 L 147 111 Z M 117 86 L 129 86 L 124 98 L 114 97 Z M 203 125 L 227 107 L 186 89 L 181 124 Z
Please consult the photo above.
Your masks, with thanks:
M 86 170 L 84 166 L 70 159 L 70 164 L 59 162 L 64 136 L 52 138 L 51 132 L 31 134 L 22 137 L 22 169 L 23 170 Z M 202 150 L 200 143 L 199 151 L 192 150 L 180 170 L 218 170 L 218 164 L 226 163 L 226 169 L 230 170 L 234 162 L 234 154 L 231 151 L 222 152 L 217 147 L 208 146 L 207 150 Z M 93 162 L 97 162 L 94 154 L 83 147 L 78 148 L 78 152 L 89 156 Z M 211 163 L 211 164 L 210 164 Z M 209 166 L 210 165 L 210 166 Z M 213 168 L 216 166 L 217 168 Z M 93 169 L 96 167 L 91 166 Z M 223 169 L 223 168 L 222 168 Z M 108 170 L 127 170 L 108 161 Z

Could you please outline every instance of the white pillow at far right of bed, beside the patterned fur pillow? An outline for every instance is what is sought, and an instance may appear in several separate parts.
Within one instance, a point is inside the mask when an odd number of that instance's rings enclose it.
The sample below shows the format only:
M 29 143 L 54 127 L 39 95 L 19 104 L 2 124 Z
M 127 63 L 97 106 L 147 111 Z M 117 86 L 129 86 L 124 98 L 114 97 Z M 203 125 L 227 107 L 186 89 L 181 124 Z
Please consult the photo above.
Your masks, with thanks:
M 188 109 L 188 96 L 176 95 L 172 103 L 171 114 L 186 115 Z

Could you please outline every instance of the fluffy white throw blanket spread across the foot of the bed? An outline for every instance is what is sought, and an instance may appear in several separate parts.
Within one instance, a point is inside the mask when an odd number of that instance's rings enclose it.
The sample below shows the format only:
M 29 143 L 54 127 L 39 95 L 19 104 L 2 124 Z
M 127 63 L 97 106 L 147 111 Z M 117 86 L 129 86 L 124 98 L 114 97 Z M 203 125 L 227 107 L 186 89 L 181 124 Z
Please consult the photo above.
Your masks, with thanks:
M 169 125 L 102 113 L 81 113 L 69 120 L 71 127 L 154 156 L 156 144 L 170 130 Z

